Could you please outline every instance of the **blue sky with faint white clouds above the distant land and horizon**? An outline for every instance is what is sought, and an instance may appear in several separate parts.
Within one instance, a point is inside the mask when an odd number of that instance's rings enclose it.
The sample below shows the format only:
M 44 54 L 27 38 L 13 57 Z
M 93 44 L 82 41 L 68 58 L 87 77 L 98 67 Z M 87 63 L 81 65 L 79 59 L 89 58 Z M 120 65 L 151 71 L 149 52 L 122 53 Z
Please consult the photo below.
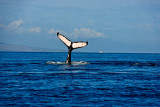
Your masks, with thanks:
M 0 0 L 0 43 L 83 52 L 160 53 L 160 0 Z

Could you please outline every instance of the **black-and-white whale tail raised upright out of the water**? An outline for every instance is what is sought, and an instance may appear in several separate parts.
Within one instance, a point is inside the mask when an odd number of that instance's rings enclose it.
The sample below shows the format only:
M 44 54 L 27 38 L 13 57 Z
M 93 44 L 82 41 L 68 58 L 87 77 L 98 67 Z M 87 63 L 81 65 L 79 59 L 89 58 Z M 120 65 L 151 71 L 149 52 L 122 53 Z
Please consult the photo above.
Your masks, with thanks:
M 87 42 L 72 42 L 65 36 L 61 35 L 59 32 L 57 32 L 58 38 L 68 47 L 68 56 L 66 59 L 66 63 L 71 64 L 71 52 L 73 49 L 82 48 L 88 45 Z

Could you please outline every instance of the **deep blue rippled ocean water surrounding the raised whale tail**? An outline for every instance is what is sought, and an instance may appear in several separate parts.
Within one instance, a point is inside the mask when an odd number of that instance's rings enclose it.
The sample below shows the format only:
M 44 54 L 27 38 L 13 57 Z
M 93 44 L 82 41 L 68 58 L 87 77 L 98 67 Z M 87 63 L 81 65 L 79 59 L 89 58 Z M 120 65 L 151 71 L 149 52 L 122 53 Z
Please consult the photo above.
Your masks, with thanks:
M 160 54 L 0 53 L 0 106 L 160 106 Z

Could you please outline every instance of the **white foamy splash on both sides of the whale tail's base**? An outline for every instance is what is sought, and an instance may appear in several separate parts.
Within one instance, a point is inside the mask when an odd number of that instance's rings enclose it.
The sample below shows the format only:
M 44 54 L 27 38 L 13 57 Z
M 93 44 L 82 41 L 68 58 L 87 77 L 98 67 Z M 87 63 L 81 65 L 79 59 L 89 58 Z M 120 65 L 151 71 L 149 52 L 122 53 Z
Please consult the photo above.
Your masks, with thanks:
M 66 64 L 65 62 L 54 62 L 54 61 L 48 61 L 46 64 Z M 89 64 L 88 62 L 85 61 L 73 61 L 71 62 L 73 65 L 80 65 L 80 64 Z

